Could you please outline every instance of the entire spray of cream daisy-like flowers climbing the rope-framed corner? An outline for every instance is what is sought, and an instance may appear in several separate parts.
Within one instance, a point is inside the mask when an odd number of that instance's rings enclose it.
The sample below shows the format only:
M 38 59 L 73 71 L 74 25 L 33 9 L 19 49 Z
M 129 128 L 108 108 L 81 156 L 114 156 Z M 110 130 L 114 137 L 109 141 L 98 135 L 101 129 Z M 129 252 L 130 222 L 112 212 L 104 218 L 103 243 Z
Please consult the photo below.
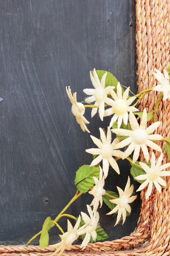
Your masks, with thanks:
M 57 247 L 54 254 L 59 253 L 59 255 L 61 255 L 65 248 L 70 249 L 71 244 L 79 236 L 84 237 L 81 244 L 82 249 L 85 249 L 91 239 L 96 241 L 96 230 L 99 227 L 99 212 L 97 212 L 97 209 L 99 206 L 102 207 L 102 203 L 104 201 L 103 198 L 106 196 L 111 198 L 109 199 L 109 204 L 114 205 L 111 208 L 112 210 L 108 212 L 107 215 L 117 213 L 115 225 L 119 223 L 121 217 L 122 224 L 124 224 L 127 213 L 131 212 L 129 204 L 132 203 L 137 197 L 136 195 L 133 195 L 134 187 L 133 185 L 130 186 L 130 178 L 128 177 L 127 179 L 127 184 L 124 191 L 117 186 L 119 195 L 115 193 L 114 195 L 116 195 L 116 197 L 110 195 L 107 190 L 104 189 L 105 179 L 108 177 L 109 166 L 111 166 L 111 168 L 116 171 L 118 175 L 120 174 L 117 160 L 127 159 L 132 164 L 137 165 L 138 168 L 140 167 L 142 169 L 142 174 L 134 178 L 139 180 L 140 183 L 143 182 L 137 191 L 140 191 L 148 186 L 145 195 L 146 199 L 151 195 L 153 186 L 155 186 L 156 189 L 161 192 L 161 186 L 166 186 L 166 182 L 164 181 L 163 177 L 170 176 L 170 171 L 165 171 L 167 167 L 170 167 L 170 163 L 161 165 L 162 149 L 156 144 L 156 141 L 160 141 L 163 138 L 159 134 L 153 134 L 161 122 L 153 122 L 152 125 L 148 126 L 146 109 L 144 109 L 143 113 L 140 113 L 139 109 L 135 108 L 137 103 L 131 105 L 136 99 L 136 96 L 140 96 L 140 98 L 142 98 L 146 91 L 130 97 L 130 87 L 123 91 L 122 86 L 117 80 L 115 80 L 117 81 L 116 86 L 111 86 L 111 84 L 109 85 L 107 80 L 108 72 L 103 72 L 104 71 L 100 73 L 102 76 L 99 76 L 95 69 L 91 71 L 90 78 L 94 88 L 83 90 L 84 93 L 89 96 L 85 99 L 85 102 L 89 104 L 94 102 L 94 105 L 83 105 L 81 102 L 77 102 L 77 93 L 72 95 L 70 87 L 66 87 L 66 92 L 72 103 L 71 111 L 76 117 L 76 120 L 83 131 L 90 132 L 86 126 L 89 124 L 89 122 L 84 117 L 85 108 L 92 108 L 91 117 L 94 117 L 99 110 L 99 117 L 102 121 L 106 116 L 113 116 L 111 117 L 111 122 L 107 129 L 107 133 L 104 129 L 99 128 L 99 138 L 91 135 L 91 139 L 96 145 L 96 148 L 86 149 L 87 153 L 93 155 L 93 161 L 91 162 L 89 168 L 94 166 L 94 169 L 99 169 L 99 175 L 97 177 L 91 177 L 93 185 L 89 185 L 87 190 L 85 186 L 85 191 L 83 190 L 83 192 L 88 191 L 89 194 L 94 197 L 91 205 L 87 205 L 89 216 L 85 212 L 81 212 L 81 217 L 79 215 L 74 227 L 71 225 L 70 221 L 68 221 L 68 231 L 60 235 L 61 242 L 52 245 L 52 247 Z M 153 87 L 151 90 L 159 91 L 163 101 L 170 99 L 170 79 L 167 71 L 164 70 L 164 76 L 159 70 L 156 70 L 156 73 L 153 73 L 153 75 L 160 82 L 160 84 Z M 140 123 L 139 120 L 136 119 L 136 114 L 141 117 Z M 117 136 L 116 139 L 113 139 L 113 141 L 112 133 L 116 134 Z M 125 148 L 126 146 L 127 148 Z M 125 150 L 121 151 L 121 148 L 125 148 Z M 148 148 L 161 152 L 157 163 L 154 153 L 152 153 L 152 157 L 150 159 Z M 139 162 L 139 164 L 136 164 L 141 150 L 144 154 L 146 163 Z M 129 156 L 132 153 L 133 158 L 131 160 Z M 151 164 L 148 163 L 149 161 L 151 161 Z M 100 166 L 101 162 L 102 167 Z M 78 183 L 81 183 L 85 179 L 86 177 L 84 179 L 80 179 Z M 89 182 L 90 181 L 88 180 L 87 183 Z

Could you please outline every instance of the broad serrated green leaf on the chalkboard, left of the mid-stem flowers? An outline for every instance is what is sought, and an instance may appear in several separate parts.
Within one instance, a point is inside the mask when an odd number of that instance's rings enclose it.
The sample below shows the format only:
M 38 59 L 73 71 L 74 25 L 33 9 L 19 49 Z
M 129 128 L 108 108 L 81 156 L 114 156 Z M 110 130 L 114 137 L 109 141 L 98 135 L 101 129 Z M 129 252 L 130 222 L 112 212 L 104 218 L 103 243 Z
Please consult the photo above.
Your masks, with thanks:
M 88 192 L 94 185 L 93 177 L 99 178 L 99 167 L 83 165 L 76 172 L 75 185 L 80 192 Z

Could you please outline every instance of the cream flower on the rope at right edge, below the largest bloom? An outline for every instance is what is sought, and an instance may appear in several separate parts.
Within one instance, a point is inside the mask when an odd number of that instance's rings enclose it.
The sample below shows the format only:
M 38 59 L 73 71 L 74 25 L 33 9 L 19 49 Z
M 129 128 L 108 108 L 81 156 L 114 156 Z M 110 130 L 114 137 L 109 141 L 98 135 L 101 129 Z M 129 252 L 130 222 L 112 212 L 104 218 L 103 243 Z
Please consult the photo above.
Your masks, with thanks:
M 139 189 L 136 191 L 140 191 L 144 189 L 145 186 L 148 185 L 147 192 L 145 198 L 149 198 L 153 184 L 156 186 L 156 189 L 161 193 L 161 186 L 166 186 L 166 182 L 161 178 L 163 176 L 170 176 L 170 171 L 162 171 L 170 166 L 170 163 L 166 163 L 161 166 L 162 162 L 162 153 L 156 163 L 155 154 L 152 152 L 151 157 L 151 167 L 147 166 L 145 163 L 139 162 L 140 166 L 144 169 L 146 174 L 139 175 L 135 177 L 137 180 L 145 180 L 144 183 L 139 186 Z M 160 186 L 160 185 L 161 186 Z

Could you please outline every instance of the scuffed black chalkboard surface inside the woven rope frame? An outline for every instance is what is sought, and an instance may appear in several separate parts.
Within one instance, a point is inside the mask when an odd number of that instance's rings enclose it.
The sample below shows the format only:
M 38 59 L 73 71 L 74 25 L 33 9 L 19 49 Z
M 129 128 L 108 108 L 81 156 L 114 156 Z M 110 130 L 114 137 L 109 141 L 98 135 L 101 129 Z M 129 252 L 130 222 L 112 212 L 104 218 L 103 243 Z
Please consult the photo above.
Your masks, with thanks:
M 92 88 L 89 71 L 96 68 L 137 91 L 134 9 L 133 0 L 0 1 L 1 244 L 26 243 L 47 216 L 55 218 L 76 192 L 75 172 L 91 163 L 85 149 L 94 144 L 71 113 L 65 86 L 84 100 L 82 90 Z M 99 137 L 110 117 L 91 120 L 90 113 L 88 128 Z M 119 167 L 120 175 L 109 172 L 106 189 L 125 187 L 130 165 L 119 160 Z M 86 211 L 91 198 L 82 195 L 68 212 Z M 113 227 L 116 216 L 106 219 L 103 204 L 100 224 L 109 239 L 133 232 L 139 210 L 138 196 L 125 224 Z M 66 219 L 60 224 L 65 230 Z M 50 231 L 50 243 L 58 233 Z

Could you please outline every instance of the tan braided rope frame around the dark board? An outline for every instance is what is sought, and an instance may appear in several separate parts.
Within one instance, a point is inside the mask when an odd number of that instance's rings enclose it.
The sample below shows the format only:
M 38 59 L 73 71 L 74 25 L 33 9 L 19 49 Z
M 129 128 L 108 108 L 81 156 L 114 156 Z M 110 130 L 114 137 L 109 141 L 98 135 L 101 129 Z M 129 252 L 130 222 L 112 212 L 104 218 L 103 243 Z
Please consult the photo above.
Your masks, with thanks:
M 154 68 L 162 71 L 170 64 L 170 0 L 136 0 L 136 45 L 138 62 L 139 92 L 156 86 L 152 75 Z M 152 111 L 157 94 L 152 91 L 140 102 L 140 111 L 144 108 Z M 157 133 L 170 137 L 170 104 L 160 103 L 158 110 L 161 125 Z M 164 151 L 164 144 L 158 143 Z M 152 150 L 150 150 L 150 154 Z M 141 155 L 141 160 L 143 157 Z M 167 155 L 164 154 L 167 162 Z M 141 192 L 142 209 L 136 232 L 114 241 L 88 244 L 85 250 L 74 245 L 63 256 L 168 256 L 170 255 L 170 179 L 167 187 L 159 194 L 153 189 L 148 200 Z M 54 248 L 38 246 L 0 246 L 2 256 L 48 256 Z

